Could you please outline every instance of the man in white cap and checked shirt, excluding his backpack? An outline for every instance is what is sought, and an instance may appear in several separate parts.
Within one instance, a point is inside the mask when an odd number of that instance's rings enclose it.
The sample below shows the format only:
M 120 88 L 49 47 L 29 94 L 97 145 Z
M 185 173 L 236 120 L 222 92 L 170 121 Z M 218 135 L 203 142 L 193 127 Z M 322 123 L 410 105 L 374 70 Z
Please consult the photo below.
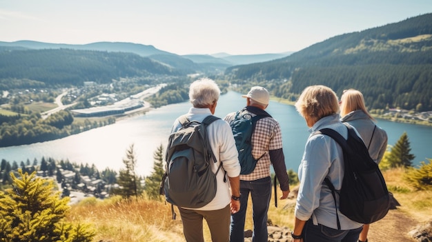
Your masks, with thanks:
M 242 97 L 246 98 L 246 107 L 239 110 L 238 113 L 228 114 L 225 121 L 231 123 L 239 114 L 265 117 L 256 121 L 251 139 L 252 155 L 258 159 L 255 169 L 249 174 L 240 174 L 240 210 L 231 214 L 230 241 L 244 241 L 244 221 L 249 194 L 251 194 L 253 201 L 252 241 L 268 241 L 267 212 L 271 200 L 271 164 L 273 164 L 282 190 L 280 199 L 286 199 L 290 192 L 282 150 L 282 132 L 279 123 L 265 111 L 270 99 L 270 94 L 266 88 L 255 86 Z

